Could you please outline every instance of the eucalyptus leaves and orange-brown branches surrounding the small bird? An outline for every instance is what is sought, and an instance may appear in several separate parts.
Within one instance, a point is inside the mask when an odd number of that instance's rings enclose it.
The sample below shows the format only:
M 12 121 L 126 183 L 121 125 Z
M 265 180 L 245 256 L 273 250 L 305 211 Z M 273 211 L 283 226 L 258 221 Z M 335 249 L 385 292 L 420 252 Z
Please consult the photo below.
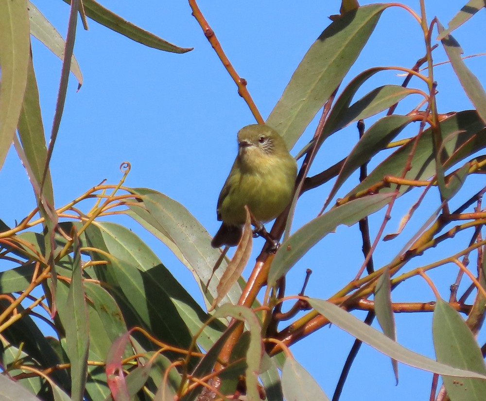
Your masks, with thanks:
M 78 14 L 85 26 L 88 17 L 154 49 L 174 53 L 191 50 L 142 30 L 93 0 L 65 1 L 71 7 L 66 40 L 30 1 L 0 2 L 0 163 L 13 142 L 37 202 L 15 227 L 0 221 L 2 400 L 26 390 L 29 395 L 25 397 L 30 399 L 56 401 L 110 397 L 191 401 L 243 395 L 253 401 L 326 400 L 328 397 L 294 359 L 289 347 L 330 323 L 356 338 L 333 400 L 339 398 L 361 342 L 392 359 L 397 380 L 397 361 L 442 375 L 444 387 L 437 400 L 482 399 L 486 393 L 485 346 L 480 348 L 475 336 L 482 329 L 486 305 L 486 240 L 481 234 L 486 223 L 481 206 L 485 188 L 471 194 L 463 184 L 469 175 L 484 173 L 486 93 L 466 67 L 461 48 L 451 36 L 485 6 L 482 0 L 469 1 L 447 30 L 437 19 L 427 19 L 423 0 L 418 14 L 399 3 L 359 6 L 356 1 L 343 0 L 341 14 L 331 17 L 312 44 L 266 121 L 293 147 L 322 110 L 313 138 L 299 152 L 303 161 L 294 201 L 271 230 L 274 238 L 281 238 L 287 228 L 282 244 L 276 254 L 263 247 L 248 281 L 239 276 L 250 257 L 249 224 L 229 261 L 226 252 L 210 247 L 208 232 L 184 206 L 150 189 L 123 186 L 129 163 L 121 166 L 123 177 L 118 184 L 100 184 L 65 206 L 55 205 L 49 162 L 69 71 L 79 85 L 83 80 L 72 54 Z M 195 1 L 189 2 L 240 95 L 262 123 L 244 80 L 226 58 Z M 341 89 L 376 24 L 386 18 L 391 7 L 405 9 L 421 26 L 424 57 L 411 69 L 364 70 Z M 439 34 L 436 40 L 435 30 Z M 49 146 L 35 78 L 35 72 L 41 71 L 33 67 L 31 35 L 63 60 Z M 437 110 L 432 57 L 436 41 L 444 47 L 474 110 Z M 427 68 L 420 70 L 424 64 Z M 404 73 L 403 85 L 385 83 L 356 100 L 364 83 L 385 70 Z M 411 83 L 416 87 L 409 87 Z M 420 98 L 417 105 L 407 113 L 396 114 L 398 103 L 411 95 Z M 378 120 L 366 129 L 366 119 L 376 115 Z M 324 140 L 355 122 L 360 136 L 349 155 L 310 176 L 309 169 Z M 395 140 L 405 128 L 415 129 L 414 135 Z M 389 149 L 394 151 L 383 159 Z M 378 164 L 367 173 L 370 161 Z M 349 188 L 350 177 L 357 171 L 360 184 L 344 193 L 343 188 Z M 321 214 L 289 235 L 299 196 L 331 179 L 334 184 Z M 385 240 L 400 236 L 433 188 L 438 189 L 440 200 L 427 224 L 411 241 L 404 240 L 402 251 L 391 262 L 375 269 L 374 250 L 396 200 L 407 192 L 418 196 L 398 232 Z M 329 207 L 337 194 L 341 198 Z M 451 201 L 466 195 L 468 200 L 451 211 Z M 87 206 L 90 202 L 91 207 Z M 368 216 L 381 209 L 386 210 L 385 218 L 372 241 Z M 119 214 L 137 221 L 190 269 L 207 310 L 134 232 L 106 221 Z M 304 296 L 305 288 L 299 295 L 286 295 L 285 275 L 289 270 L 338 226 L 357 223 L 365 259 L 361 267 L 356 266 L 356 278 L 336 288 L 326 300 Z M 470 231 L 470 241 L 462 250 L 434 262 L 418 262 L 420 267 L 407 270 L 409 261 L 420 261 L 431 248 L 450 243 L 454 234 L 463 230 Z M 467 266 L 471 257 L 477 259 L 472 270 Z M 447 302 L 438 296 L 426 273 L 446 263 L 454 263 L 459 269 Z M 470 287 L 457 296 L 463 274 L 468 276 Z M 211 279 L 213 275 L 217 279 Z M 392 291 L 418 276 L 430 284 L 436 303 L 393 303 Z M 259 301 L 261 289 L 265 289 L 265 295 Z M 287 313 L 282 313 L 283 302 L 294 302 Z M 354 310 L 368 311 L 364 322 L 350 313 Z M 397 343 L 394 325 L 394 312 L 431 310 L 436 361 Z M 298 312 L 301 315 L 296 318 Z M 385 334 L 370 326 L 375 316 Z M 287 327 L 279 327 L 288 320 L 291 323 Z M 436 386 L 435 380 L 431 399 L 435 398 Z

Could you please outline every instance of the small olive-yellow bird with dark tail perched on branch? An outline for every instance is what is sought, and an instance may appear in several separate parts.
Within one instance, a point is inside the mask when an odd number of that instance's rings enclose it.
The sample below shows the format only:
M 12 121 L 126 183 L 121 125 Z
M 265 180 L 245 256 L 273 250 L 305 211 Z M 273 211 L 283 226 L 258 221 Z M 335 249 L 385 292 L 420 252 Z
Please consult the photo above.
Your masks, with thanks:
M 252 124 L 238 132 L 238 155 L 219 194 L 216 209 L 220 229 L 213 248 L 238 245 L 247 205 L 253 217 L 265 223 L 275 219 L 294 193 L 297 164 L 277 131 Z

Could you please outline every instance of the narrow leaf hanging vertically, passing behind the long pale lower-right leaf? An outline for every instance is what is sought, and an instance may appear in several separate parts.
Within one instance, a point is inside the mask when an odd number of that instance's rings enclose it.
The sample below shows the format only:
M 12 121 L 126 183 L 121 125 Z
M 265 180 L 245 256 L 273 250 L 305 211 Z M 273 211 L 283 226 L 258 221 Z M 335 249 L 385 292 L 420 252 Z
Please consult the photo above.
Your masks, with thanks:
M 390 270 L 385 268 L 383 274 L 378 279 L 375 287 L 375 314 L 380 323 L 383 333 L 397 341 L 397 334 L 395 332 L 395 317 L 392 310 L 391 298 L 391 284 L 390 284 Z M 392 359 L 393 372 L 398 384 L 398 363 Z

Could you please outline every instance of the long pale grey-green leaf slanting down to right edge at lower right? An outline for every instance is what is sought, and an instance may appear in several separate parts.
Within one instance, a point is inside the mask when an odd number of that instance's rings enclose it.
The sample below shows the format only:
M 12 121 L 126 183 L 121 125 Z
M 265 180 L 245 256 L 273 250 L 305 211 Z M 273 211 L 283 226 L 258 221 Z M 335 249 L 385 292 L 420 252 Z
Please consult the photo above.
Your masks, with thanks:
M 380 351 L 399 362 L 441 375 L 474 377 L 486 380 L 486 374 L 458 369 L 417 354 L 416 352 L 401 346 L 382 332 L 373 329 L 357 317 L 330 302 L 312 298 L 309 298 L 308 301 L 317 312 L 326 317 L 333 325 L 347 331 L 358 340 L 363 341 L 365 344 L 370 345 L 377 351 Z

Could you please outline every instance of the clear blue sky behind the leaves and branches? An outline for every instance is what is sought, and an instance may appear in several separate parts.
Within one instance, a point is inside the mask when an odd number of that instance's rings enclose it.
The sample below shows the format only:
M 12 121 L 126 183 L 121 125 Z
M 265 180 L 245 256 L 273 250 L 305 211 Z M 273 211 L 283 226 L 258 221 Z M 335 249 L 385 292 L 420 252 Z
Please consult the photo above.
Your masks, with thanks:
M 33 2 L 65 35 L 69 6 L 62 1 Z M 92 20 L 88 20 L 87 32 L 81 23 L 78 24 L 74 54 L 83 72 L 84 84 L 76 92 L 76 80 L 70 77 L 65 112 L 51 163 L 56 207 L 103 179 L 116 184 L 121 178 L 119 166 L 126 160 L 132 169 L 125 185 L 147 187 L 167 194 L 189 209 L 210 233 L 215 233 L 219 227 L 215 205 L 236 154 L 236 133 L 242 126 L 255 121 L 201 28 L 191 17 L 186 1 L 101 2 L 143 29 L 179 46 L 194 47 L 194 50 L 186 54 L 160 52 Z M 419 12 L 418 1 L 406 3 Z M 436 15 L 447 26 L 461 5 L 457 1 L 428 1 L 428 18 Z M 338 13 L 339 2 L 200 1 L 199 6 L 233 66 L 247 80 L 248 90 L 266 118 L 305 52 L 330 23 L 328 16 Z M 484 32 L 484 12 L 478 13 L 454 34 L 465 54 L 485 51 L 484 40 L 478 32 Z M 421 36 L 416 21 L 403 9 L 385 10 L 345 82 L 369 67 L 413 66 L 424 54 Z M 61 63 L 35 39 L 33 53 L 46 132 L 50 132 Z M 439 47 L 434 52 L 434 61 L 444 60 L 446 56 Z M 466 62 L 485 83 L 484 57 Z M 449 65 L 437 67 L 435 74 L 439 83 L 439 112 L 471 107 Z M 401 84 L 402 80 L 403 77 L 394 73 L 378 74 L 369 80 L 369 86 L 359 95 L 375 86 Z M 413 82 L 413 85 L 419 84 Z M 413 107 L 417 99 L 412 98 L 401 111 Z M 312 137 L 315 124 L 310 125 L 292 150 L 293 155 Z M 368 122 L 367 126 L 370 125 Z M 414 135 L 413 131 L 408 134 Z M 355 128 L 349 127 L 331 137 L 316 158 L 311 174 L 344 157 L 356 136 Z M 479 181 L 481 178 L 468 179 L 471 192 Z M 13 225 L 14 219 L 20 220 L 33 209 L 35 198 L 27 175 L 12 150 L 0 174 L 0 185 L 4 188 L 0 217 Z M 326 185 L 302 197 L 297 205 L 295 229 L 317 215 L 329 191 L 330 186 Z M 407 195 L 402 198 L 386 232 L 395 230 L 407 202 L 414 199 Z M 427 216 L 426 211 L 424 213 Z M 376 221 L 371 222 L 372 230 L 381 223 L 382 214 L 376 216 Z M 413 234 L 414 228 L 424 220 L 423 216 L 417 218 L 408 233 Z M 200 299 L 192 275 L 164 249 L 163 244 L 129 219 L 121 223 L 133 227 L 174 276 L 182 280 L 196 299 Z M 359 232 L 341 227 L 330 237 L 312 249 L 289 273 L 289 294 L 300 290 L 306 268 L 314 271 L 307 294 L 321 298 L 332 295 L 354 276 L 363 259 Z M 392 259 L 402 244 L 400 241 L 387 243 L 382 252 L 378 252 L 375 266 L 380 267 Z M 255 241 L 256 251 L 261 245 L 261 240 Z M 431 258 L 434 258 L 434 252 L 431 252 Z M 435 257 L 444 249 L 436 252 Z M 448 296 L 455 274 L 456 269 L 452 266 L 431 273 L 442 284 L 439 288 L 442 296 Z M 429 301 L 434 296 L 423 281 L 415 279 L 408 287 L 397 288 L 393 298 Z M 364 317 L 363 313 L 357 315 Z M 399 342 L 434 357 L 431 314 L 400 314 L 396 318 Z M 352 341 L 349 335 L 331 327 L 301 341 L 292 350 L 331 397 Z M 399 386 L 396 387 L 389 359 L 364 346 L 341 400 L 355 399 L 358 393 L 360 400 L 428 397 L 430 373 L 403 365 L 399 371 Z

